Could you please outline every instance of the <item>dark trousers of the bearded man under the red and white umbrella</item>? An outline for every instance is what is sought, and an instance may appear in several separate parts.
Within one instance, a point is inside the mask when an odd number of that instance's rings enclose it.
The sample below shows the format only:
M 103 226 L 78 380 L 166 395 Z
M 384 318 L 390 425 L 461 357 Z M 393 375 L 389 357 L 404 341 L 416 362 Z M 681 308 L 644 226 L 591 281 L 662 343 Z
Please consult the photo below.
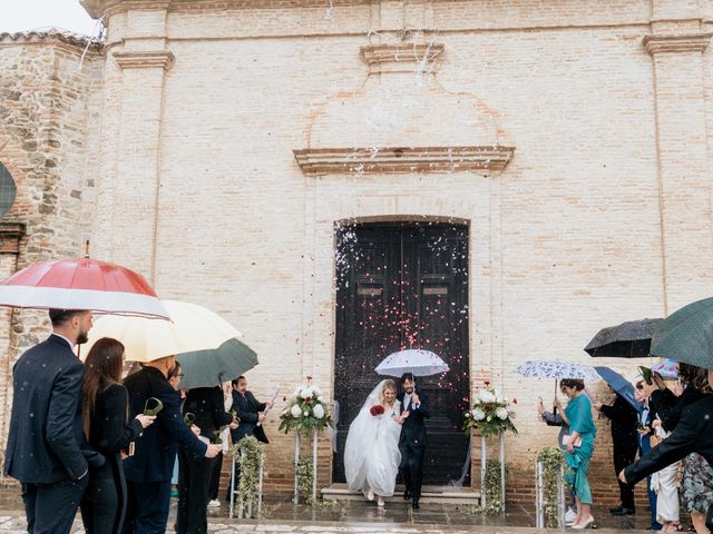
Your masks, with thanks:
M 88 474 L 79 481 L 67 478 L 55 484 L 23 482 L 22 501 L 27 514 L 27 532 L 69 534 L 88 483 Z

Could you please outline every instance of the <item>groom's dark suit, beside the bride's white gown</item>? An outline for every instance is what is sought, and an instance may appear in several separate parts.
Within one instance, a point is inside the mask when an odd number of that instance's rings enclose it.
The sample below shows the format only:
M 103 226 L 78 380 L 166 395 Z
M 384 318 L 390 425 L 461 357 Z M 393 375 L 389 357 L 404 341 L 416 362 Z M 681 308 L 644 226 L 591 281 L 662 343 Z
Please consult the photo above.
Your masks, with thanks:
M 401 452 L 400 469 L 406 484 L 406 492 L 411 494 L 413 503 L 421 498 L 421 484 L 423 482 L 423 454 L 428 436 L 426 434 L 424 419 L 430 417 L 428 411 L 428 397 L 419 389 L 414 389 L 419 396 L 419 406 L 409 402 L 404 405 L 406 394 L 399 394 L 401 411 L 409 412 L 409 416 L 403 422 L 401 435 L 399 436 L 399 451 Z

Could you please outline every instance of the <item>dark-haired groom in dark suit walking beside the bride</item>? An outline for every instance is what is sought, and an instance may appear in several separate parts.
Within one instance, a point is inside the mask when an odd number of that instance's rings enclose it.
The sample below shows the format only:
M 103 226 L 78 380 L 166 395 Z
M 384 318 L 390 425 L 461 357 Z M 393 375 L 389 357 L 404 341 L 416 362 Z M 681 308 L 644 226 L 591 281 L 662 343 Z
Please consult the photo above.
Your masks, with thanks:
M 423 452 L 426 451 L 426 425 L 423 419 L 430 417 L 428 413 L 428 398 L 416 388 L 413 374 L 404 373 L 401 376 L 401 393 L 399 400 L 403 412 L 403 428 L 399 437 L 399 451 L 401 452 L 401 465 L 406 491 L 403 498 L 412 500 L 414 510 L 419 508 L 421 498 L 421 482 L 423 474 Z

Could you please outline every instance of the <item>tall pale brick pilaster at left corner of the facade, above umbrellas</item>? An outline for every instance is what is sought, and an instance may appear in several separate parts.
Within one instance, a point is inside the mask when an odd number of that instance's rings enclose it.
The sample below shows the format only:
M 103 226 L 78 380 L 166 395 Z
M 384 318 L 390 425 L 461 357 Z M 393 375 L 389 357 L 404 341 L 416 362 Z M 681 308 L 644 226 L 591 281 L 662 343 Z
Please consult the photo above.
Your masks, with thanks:
M 105 147 L 114 151 L 110 187 L 100 209 L 109 209 L 110 227 L 96 236 L 101 256 L 127 265 L 155 283 L 156 228 L 160 190 L 160 137 L 164 82 L 174 62 L 166 49 L 166 11 L 145 9 L 129 13 L 120 34 L 110 34 L 107 93 L 120 101 L 114 138 Z M 114 85 L 111 85 L 111 81 Z M 117 229 L 120 229 L 117 231 Z M 129 246 L 126 246 L 130 244 Z

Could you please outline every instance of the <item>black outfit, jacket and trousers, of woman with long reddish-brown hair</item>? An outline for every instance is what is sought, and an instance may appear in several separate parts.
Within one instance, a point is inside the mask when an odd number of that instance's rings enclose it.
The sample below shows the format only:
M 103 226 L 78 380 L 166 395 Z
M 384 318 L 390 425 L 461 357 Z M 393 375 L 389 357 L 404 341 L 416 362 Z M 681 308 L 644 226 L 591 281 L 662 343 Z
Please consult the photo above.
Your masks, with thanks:
M 89 444 L 107 462 L 90 469 L 89 486 L 81 500 L 81 520 L 87 534 L 120 533 L 126 515 L 126 481 L 119 453 L 144 432 L 138 419 L 127 424 L 128 393 L 121 384 L 110 384 L 97 394 Z

